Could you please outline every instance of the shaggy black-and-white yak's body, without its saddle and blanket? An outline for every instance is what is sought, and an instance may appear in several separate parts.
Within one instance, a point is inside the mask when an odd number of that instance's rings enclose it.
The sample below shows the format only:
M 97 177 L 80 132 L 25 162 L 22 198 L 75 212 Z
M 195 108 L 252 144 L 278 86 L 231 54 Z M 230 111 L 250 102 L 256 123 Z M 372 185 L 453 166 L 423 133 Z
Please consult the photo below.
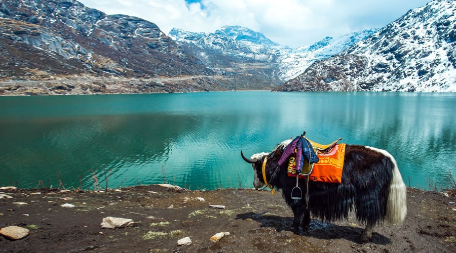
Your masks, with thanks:
M 254 154 L 251 158 L 241 155 L 252 164 L 255 188 L 265 186 L 262 163 L 265 165 L 266 181 L 275 189 L 282 190 L 282 196 L 293 210 L 292 229 L 308 226 L 313 217 L 332 223 L 348 219 L 355 210 L 356 219 L 366 227 L 361 240 L 367 241 L 372 235 L 375 224 L 387 221 L 402 224 L 407 214 L 406 189 L 399 173 L 396 160 L 387 151 L 367 146 L 347 145 L 341 183 L 322 183 L 309 181 L 309 208 L 306 204 L 306 179 L 299 180 L 302 199 L 292 199 L 291 191 L 296 186 L 296 178 L 288 177 L 285 162 L 278 161 L 284 148 L 291 142 L 286 140 L 277 145 L 271 153 Z

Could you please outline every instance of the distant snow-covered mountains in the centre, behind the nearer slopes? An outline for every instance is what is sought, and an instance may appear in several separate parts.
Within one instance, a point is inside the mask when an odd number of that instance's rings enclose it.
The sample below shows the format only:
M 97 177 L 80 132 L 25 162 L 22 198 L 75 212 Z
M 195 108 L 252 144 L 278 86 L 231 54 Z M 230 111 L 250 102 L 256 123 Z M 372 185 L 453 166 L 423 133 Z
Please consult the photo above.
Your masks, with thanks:
M 194 49 L 194 56 L 211 68 L 214 67 L 213 63 L 220 67 L 220 60 L 215 60 L 220 56 L 231 58 L 229 66 L 221 64 L 222 67 L 232 67 L 232 63 L 237 60 L 254 61 L 272 66 L 272 79 L 283 83 L 302 73 L 313 62 L 340 53 L 376 30 L 368 29 L 337 38 L 326 37 L 314 45 L 298 49 L 281 46 L 262 33 L 241 26 L 223 26 L 214 33 L 189 32 L 173 28 L 168 35 L 181 46 L 196 46 L 198 49 Z

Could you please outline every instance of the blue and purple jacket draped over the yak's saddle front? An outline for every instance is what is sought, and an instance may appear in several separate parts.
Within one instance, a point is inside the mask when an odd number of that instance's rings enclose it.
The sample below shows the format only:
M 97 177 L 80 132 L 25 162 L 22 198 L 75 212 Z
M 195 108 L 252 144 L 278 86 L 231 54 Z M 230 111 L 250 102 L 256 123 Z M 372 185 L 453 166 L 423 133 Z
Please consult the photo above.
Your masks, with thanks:
M 279 166 L 285 161 L 288 161 L 288 158 L 294 154 L 296 150 L 296 172 L 299 173 L 302 170 L 302 165 L 304 164 L 304 159 L 307 159 L 309 163 L 318 162 L 320 159 L 312 147 L 312 144 L 303 136 L 296 136 L 290 144 L 287 145 L 285 150 L 282 153 L 282 156 L 279 159 Z

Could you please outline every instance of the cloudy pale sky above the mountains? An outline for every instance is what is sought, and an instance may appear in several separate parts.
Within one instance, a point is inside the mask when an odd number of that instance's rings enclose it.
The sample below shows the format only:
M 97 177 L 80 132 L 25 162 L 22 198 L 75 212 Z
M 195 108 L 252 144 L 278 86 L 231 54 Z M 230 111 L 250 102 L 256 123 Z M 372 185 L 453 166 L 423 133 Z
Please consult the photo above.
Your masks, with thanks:
M 79 0 L 106 14 L 125 14 L 173 28 L 214 32 L 240 25 L 290 48 L 381 28 L 429 0 Z

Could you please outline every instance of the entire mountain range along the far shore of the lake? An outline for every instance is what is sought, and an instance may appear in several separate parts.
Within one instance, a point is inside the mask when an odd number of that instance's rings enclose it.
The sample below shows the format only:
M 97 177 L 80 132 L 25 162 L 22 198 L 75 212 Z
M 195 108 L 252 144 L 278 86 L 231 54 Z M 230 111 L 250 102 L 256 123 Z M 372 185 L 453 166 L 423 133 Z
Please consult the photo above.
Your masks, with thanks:
M 18 83 L 29 80 L 47 81 L 32 94 L 68 94 L 73 85 L 62 91 L 53 83 L 71 79 L 88 83 L 81 94 L 456 92 L 455 11 L 452 1 L 434 0 L 381 29 L 290 49 L 242 26 L 166 35 L 153 22 L 75 0 L 13 0 L 0 6 L 0 94 L 24 93 Z M 109 78 L 122 85 L 109 89 Z

